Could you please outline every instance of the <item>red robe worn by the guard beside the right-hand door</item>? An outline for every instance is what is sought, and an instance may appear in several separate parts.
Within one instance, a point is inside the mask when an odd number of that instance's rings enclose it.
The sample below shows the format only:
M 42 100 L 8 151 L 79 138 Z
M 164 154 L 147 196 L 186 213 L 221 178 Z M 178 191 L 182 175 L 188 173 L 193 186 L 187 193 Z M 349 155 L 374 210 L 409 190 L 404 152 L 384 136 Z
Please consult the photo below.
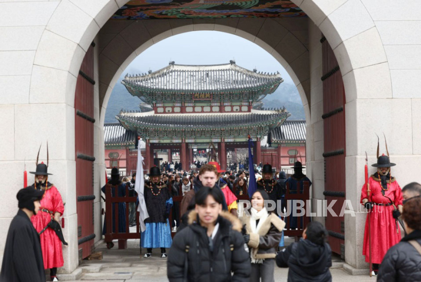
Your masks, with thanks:
M 368 199 L 371 202 L 379 204 L 389 204 L 389 197 L 396 207 L 402 205 L 402 189 L 398 182 L 392 178 L 392 183 L 388 183 L 389 189 L 384 191 L 384 196 L 381 193 L 381 184 L 373 175 L 369 178 L 371 198 L 367 197 L 367 187 L 364 184 L 361 193 L 361 203 L 363 199 Z M 392 216 L 394 210 L 393 205 L 380 206 L 374 205 L 371 210 L 371 262 L 380 264 L 386 252 L 391 246 L 399 243 L 401 240 L 401 231 L 396 228 L 396 220 Z M 368 217 L 364 230 L 364 244 L 363 255 L 365 261 L 369 262 L 369 244 L 368 244 Z

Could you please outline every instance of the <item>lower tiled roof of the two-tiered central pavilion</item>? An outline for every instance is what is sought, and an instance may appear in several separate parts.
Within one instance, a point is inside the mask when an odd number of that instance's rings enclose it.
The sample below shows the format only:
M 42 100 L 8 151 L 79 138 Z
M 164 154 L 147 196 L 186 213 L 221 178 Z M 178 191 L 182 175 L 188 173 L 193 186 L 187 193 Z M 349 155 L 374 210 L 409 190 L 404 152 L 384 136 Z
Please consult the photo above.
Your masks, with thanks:
M 285 110 L 256 111 L 252 113 L 224 113 L 224 114 L 152 114 L 120 113 L 116 118 L 121 122 L 136 124 L 149 128 L 230 128 L 239 126 L 253 126 L 259 124 L 277 124 L 280 119 L 289 117 Z

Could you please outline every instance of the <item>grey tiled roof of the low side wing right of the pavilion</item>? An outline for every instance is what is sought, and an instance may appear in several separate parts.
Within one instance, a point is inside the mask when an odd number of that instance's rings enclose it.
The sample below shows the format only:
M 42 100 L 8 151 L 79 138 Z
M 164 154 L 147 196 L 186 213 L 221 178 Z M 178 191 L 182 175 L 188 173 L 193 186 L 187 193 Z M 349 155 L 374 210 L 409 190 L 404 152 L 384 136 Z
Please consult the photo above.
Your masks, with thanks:
M 272 130 L 272 143 L 304 143 L 305 124 L 304 120 L 286 120 L 280 127 Z M 261 140 L 261 146 L 266 145 L 267 136 Z

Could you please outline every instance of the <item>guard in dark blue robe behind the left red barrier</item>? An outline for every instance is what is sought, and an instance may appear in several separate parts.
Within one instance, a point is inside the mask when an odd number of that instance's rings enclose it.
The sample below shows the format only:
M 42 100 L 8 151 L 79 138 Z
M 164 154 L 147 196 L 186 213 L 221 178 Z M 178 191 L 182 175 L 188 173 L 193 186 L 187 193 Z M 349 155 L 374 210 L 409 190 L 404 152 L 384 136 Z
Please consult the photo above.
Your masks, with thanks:
M 126 184 L 120 181 L 120 172 L 118 168 L 114 167 L 111 169 L 111 194 L 113 197 L 116 196 L 116 189 L 117 189 L 117 196 L 124 197 L 126 195 Z M 106 186 L 101 188 L 101 191 L 105 194 L 106 193 Z M 106 199 L 107 200 L 107 199 Z M 112 208 L 113 214 L 113 233 L 116 233 L 115 228 L 115 204 L 113 204 Z M 125 233 L 126 232 L 126 203 L 118 203 L 118 233 Z M 102 229 L 102 235 L 107 233 L 107 221 L 104 221 L 104 226 Z M 107 247 L 109 249 L 113 248 L 113 242 L 108 242 Z

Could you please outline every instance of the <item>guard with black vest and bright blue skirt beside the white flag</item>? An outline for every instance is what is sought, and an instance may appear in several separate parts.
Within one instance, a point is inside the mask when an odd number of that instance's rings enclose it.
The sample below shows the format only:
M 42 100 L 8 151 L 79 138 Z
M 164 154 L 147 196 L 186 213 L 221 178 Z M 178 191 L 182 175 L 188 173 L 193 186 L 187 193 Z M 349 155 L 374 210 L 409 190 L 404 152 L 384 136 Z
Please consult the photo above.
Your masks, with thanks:
M 142 248 L 147 248 L 145 258 L 152 256 L 153 248 L 161 248 L 161 257 L 166 258 L 165 248 L 172 244 L 169 226 L 169 212 L 172 198 L 169 189 L 161 181 L 161 171 L 154 166 L 150 169 L 149 181 L 145 181 L 145 203 L 149 218 L 145 220 L 146 230 L 141 235 Z

